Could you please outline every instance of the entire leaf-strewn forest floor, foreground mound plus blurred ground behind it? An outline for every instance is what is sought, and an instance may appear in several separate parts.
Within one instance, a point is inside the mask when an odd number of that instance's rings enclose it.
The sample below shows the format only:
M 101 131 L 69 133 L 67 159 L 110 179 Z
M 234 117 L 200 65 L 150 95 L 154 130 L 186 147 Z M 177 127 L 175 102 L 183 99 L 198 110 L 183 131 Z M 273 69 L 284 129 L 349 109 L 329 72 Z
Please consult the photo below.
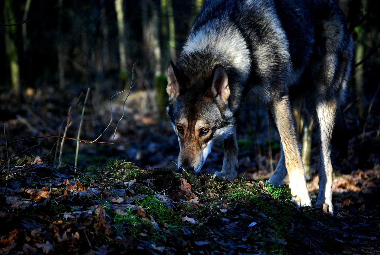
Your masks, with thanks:
M 56 139 L 1 145 L 58 135 L 76 92 L 66 98 L 55 92 L 32 91 L 22 104 L 0 94 L 0 124 L 7 137 L 0 138 L 1 254 L 380 254 L 378 123 L 367 125 L 362 135 L 361 127 L 347 119 L 349 150 L 333 157 L 330 215 L 296 208 L 286 184 L 265 184 L 279 157 L 278 137 L 265 123 L 265 111 L 246 113 L 261 123 L 243 124 L 239 131 L 241 165 L 232 183 L 209 174 L 222 165 L 218 144 L 204 175 L 171 170 L 177 138 L 164 117 L 157 117 L 154 96 L 144 92 L 128 99 L 114 145 L 80 143 L 78 167 L 73 167 L 74 142 L 65 141 L 61 167 L 54 160 Z M 122 100 L 112 107 L 117 120 Z M 80 115 L 81 109 L 74 109 L 68 137 L 76 137 Z M 87 107 L 82 137 L 95 139 L 109 118 L 107 103 Z M 113 121 L 101 140 L 109 142 L 115 128 Z M 312 202 L 318 194 L 317 152 L 313 145 Z

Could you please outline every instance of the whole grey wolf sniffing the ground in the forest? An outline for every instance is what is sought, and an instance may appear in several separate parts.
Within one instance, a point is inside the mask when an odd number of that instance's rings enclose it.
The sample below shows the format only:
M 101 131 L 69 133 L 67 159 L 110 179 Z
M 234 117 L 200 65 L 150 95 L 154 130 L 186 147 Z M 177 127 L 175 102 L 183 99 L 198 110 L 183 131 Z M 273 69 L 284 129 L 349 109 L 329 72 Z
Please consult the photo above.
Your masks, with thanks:
M 289 175 L 292 200 L 311 206 L 292 107 L 307 98 L 320 140 L 315 207 L 333 213 L 331 137 L 344 102 L 353 43 L 334 0 L 207 0 L 176 65 L 167 69 L 166 112 L 178 135 L 178 165 L 198 173 L 215 141 L 224 141 L 221 172 L 238 170 L 236 116 L 242 99 L 274 117 L 281 157 L 269 183 Z

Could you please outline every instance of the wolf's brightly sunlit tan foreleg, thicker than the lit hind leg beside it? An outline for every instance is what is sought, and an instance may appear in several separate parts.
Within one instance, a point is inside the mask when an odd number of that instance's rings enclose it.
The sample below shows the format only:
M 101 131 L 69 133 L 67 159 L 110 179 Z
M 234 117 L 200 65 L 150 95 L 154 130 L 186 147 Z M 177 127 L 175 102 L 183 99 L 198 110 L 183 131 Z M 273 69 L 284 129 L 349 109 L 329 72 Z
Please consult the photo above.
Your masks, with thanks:
M 278 102 L 275 102 L 272 105 L 272 111 L 280 134 L 292 200 L 298 206 L 310 206 L 311 201 L 306 187 L 305 169 L 299 153 L 289 96 L 283 96 Z

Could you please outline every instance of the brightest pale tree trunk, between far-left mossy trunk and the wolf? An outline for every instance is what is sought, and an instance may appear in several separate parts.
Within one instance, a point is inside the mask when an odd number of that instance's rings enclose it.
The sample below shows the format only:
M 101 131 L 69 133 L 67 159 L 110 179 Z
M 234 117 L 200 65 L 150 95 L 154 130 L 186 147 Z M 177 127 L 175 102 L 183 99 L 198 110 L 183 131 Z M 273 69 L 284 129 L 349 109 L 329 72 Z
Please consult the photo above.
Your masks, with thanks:
M 124 86 L 127 81 L 127 36 L 125 33 L 124 0 L 115 0 L 115 10 L 117 15 L 117 28 L 119 31 L 119 57 L 120 57 L 120 80 Z

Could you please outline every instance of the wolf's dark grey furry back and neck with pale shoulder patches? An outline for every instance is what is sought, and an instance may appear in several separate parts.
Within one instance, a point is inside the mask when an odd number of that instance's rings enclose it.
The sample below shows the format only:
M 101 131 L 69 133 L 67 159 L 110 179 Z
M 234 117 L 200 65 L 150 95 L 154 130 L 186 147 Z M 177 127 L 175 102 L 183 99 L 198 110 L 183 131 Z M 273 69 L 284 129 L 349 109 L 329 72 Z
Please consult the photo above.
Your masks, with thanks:
M 310 59 L 318 52 L 323 57 L 326 51 L 352 47 L 344 19 L 333 0 L 209 0 L 193 23 L 178 69 L 196 87 L 221 64 L 232 104 L 249 90 L 269 103 L 312 69 Z M 331 37 L 341 45 L 327 49 L 326 33 L 337 34 Z

